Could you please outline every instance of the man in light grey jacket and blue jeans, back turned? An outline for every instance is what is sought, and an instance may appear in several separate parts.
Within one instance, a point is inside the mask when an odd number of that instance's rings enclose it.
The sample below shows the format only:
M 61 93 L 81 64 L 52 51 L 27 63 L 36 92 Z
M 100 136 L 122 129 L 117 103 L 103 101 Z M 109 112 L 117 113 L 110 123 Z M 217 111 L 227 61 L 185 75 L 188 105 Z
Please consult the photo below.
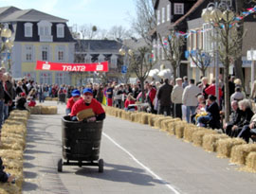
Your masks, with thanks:
M 190 85 L 188 85 L 182 96 L 182 102 L 186 106 L 186 119 L 187 122 L 191 122 L 191 115 L 194 114 L 197 106 L 197 95 L 200 93 L 200 89 L 194 85 L 194 79 L 190 80 Z

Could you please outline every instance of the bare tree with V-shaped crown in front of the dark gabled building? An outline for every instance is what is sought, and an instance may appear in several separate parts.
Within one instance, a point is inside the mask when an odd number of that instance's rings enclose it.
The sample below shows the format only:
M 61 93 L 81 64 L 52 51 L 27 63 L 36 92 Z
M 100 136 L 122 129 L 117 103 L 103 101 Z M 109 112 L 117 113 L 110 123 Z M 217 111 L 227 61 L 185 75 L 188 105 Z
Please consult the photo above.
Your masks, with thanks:
M 160 34 L 158 34 L 158 38 L 161 40 L 160 43 L 164 51 L 166 61 L 171 62 L 175 81 L 177 77 L 177 70 L 180 66 L 181 57 L 183 54 L 185 39 L 173 29 L 170 30 L 170 34 L 168 34 L 164 40 Z

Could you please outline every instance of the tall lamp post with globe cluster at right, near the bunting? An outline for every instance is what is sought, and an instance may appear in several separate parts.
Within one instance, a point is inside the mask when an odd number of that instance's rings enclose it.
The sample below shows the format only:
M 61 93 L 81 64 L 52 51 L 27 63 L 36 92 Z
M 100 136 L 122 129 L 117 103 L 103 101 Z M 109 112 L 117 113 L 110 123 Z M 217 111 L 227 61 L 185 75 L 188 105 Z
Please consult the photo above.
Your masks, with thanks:
M 214 32 L 214 44 L 213 44 L 213 52 L 214 52 L 214 66 L 215 66 L 215 77 L 216 77 L 216 82 L 215 82 L 215 96 L 217 97 L 217 102 L 218 104 L 220 103 L 219 101 L 219 53 L 218 53 L 218 30 L 215 24 L 219 24 L 222 21 L 224 22 L 229 22 L 233 20 L 234 18 L 234 13 L 233 11 L 230 10 L 229 6 L 222 2 L 218 3 L 216 0 L 214 3 L 210 3 L 207 6 L 207 9 L 204 9 L 202 11 L 202 18 L 206 23 L 211 23 L 213 26 L 213 32 Z M 226 94 L 228 95 L 228 94 Z

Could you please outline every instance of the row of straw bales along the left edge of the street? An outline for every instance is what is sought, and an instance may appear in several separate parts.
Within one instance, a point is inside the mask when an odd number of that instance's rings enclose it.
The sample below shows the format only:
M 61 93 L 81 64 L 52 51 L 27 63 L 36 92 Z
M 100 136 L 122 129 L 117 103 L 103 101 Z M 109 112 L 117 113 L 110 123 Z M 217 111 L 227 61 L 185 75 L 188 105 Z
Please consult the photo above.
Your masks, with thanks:
M 0 157 L 5 171 L 15 177 L 15 184 L 0 183 L 0 193 L 22 193 L 28 116 L 27 111 L 13 111 L 2 126 Z

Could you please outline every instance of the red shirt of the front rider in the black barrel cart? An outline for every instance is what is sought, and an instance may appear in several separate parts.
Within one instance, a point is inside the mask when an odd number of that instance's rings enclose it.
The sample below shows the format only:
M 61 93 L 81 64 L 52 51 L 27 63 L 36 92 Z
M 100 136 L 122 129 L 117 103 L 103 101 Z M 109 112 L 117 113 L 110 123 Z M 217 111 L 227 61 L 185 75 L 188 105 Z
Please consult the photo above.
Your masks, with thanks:
M 73 105 L 70 116 L 77 115 L 79 112 L 86 109 L 92 109 L 95 115 L 101 115 L 105 113 L 101 106 L 101 103 L 97 101 L 95 98 L 92 99 L 89 106 L 87 106 L 83 98 L 81 98 L 78 101 L 76 101 Z

